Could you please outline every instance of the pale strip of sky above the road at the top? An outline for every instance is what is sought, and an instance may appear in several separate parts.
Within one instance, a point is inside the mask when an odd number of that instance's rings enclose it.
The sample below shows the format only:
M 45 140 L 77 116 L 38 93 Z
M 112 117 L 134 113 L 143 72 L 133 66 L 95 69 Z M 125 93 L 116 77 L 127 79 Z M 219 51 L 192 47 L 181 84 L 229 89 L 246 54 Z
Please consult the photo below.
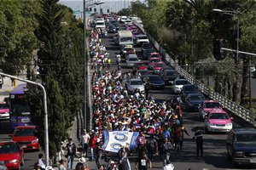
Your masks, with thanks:
M 101 0 L 86 0 L 88 3 L 95 3 L 96 1 Z M 107 13 L 107 10 L 109 9 L 109 12 L 118 12 L 121 8 L 128 8 L 131 5 L 131 2 L 134 2 L 136 0 L 102 0 L 105 1 L 105 3 L 101 5 L 97 5 L 93 8 L 96 8 L 96 11 L 99 12 L 100 8 L 102 8 L 103 13 Z M 60 3 L 63 5 L 66 5 L 69 8 L 72 8 L 73 11 L 83 11 L 83 3 L 84 0 L 60 0 Z M 94 9 L 92 9 L 94 10 Z M 76 17 L 80 17 L 81 14 L 76 14 Z

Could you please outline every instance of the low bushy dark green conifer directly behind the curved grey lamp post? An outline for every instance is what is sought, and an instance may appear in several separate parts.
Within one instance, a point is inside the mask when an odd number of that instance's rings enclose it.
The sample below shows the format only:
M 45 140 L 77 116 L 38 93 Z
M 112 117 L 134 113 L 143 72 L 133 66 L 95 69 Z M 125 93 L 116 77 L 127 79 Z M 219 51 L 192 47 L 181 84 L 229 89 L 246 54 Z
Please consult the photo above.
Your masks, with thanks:
M 45 79 L 45 90 L 47 92 L 47 104 L 49 115 L 49 156 L 55 156 L 55 153 L 61 150 L 61 140 L 67 138 L 67 129 L 65 124 L 67 118 L 65 117 L 65 103 L 61 95 L 61 89 L 58 82 L 55 81 L 53 75 L 50 73 Z M 29 90 L 26 93 L 27 100 L 30 101 L 29 108 L 33 113 L 33 122 L 35 122 L 38 129 L 38 139 L 41 147 L 44 148 L 44 107 L 43 107 L 43 93 L 38 90 L 38 87 L 29 85 Z M 40 97 L 38 97 L 40 96 Z M 35 105 L 37 102 L 37 105 Z

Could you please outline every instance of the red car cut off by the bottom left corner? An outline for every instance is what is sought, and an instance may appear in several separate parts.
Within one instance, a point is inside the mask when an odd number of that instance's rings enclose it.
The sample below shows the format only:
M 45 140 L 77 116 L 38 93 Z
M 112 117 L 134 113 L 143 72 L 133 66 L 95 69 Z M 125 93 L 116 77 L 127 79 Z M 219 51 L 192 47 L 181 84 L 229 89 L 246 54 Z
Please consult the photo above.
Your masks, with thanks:
M 0 142 L 0 164 L 9 170 L 20 169 L 24 165 L 24 151 L 20 144 L 13 141 Z

